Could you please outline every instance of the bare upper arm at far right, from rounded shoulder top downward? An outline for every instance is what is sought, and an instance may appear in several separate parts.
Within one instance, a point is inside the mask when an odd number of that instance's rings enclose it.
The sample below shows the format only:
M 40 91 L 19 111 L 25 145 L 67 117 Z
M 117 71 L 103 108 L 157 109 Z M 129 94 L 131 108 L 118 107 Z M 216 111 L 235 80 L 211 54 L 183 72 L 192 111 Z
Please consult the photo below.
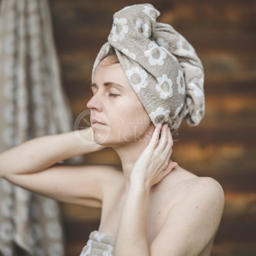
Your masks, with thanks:
M 150 244 L 151 256 L 198 256 L 212 245 L 224 208 L 222 186 L 210 177 L 195 178 L 187 186 L 188 193 L 170 209 Z

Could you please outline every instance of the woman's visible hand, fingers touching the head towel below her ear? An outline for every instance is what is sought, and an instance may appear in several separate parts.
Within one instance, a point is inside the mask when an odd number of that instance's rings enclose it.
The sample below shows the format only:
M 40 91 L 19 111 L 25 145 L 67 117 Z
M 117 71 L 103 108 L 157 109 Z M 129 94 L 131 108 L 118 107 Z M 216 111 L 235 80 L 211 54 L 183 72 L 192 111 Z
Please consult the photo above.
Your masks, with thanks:
M 161 129 L 161 138 L 159 139 Z M 172 146 L 173 140 L 168 124 L 158 125 L 148 146 L 135 162 L 130 181 L 142 182 L 142 185 L 148 188 L 160 182 L 173 168 L 178 166 L 176 162 L 170 160 Z

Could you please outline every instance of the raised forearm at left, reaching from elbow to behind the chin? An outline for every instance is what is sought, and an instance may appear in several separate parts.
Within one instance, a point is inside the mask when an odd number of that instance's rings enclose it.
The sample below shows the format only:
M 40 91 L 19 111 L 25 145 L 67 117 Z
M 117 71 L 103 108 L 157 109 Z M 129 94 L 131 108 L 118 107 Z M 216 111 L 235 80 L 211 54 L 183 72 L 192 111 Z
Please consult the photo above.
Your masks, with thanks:
M 84 140 L 91 140 L 92 128 L 77 130 Z M 28 174 L 41 171 L 75 155 L 88 154 L 101 149 L 94 141 L 88 146 L 75 131 L 46 135 L 26 141 L 0 154 L 0 176 Z

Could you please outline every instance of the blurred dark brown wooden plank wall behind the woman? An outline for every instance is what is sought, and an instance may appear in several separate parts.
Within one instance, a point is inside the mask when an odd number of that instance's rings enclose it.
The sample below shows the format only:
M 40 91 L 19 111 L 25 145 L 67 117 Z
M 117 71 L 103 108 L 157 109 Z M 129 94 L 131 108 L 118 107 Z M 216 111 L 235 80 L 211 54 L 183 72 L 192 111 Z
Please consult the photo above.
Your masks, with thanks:
M 197 127 L 183 121 L 173 158 L 183 168 L 221 183 L 225 209 L 213 256 L 256 255 L 256 1 L 50 0 L 63 87 L 74 119 L 91 97 L 87 81 L 106 42 L 113 14 L 151 3 L 159 22 L 171 24 L 202 60 L 206 114 Z M 120 164 L 111 148 L 84 163 Z M 98 229 L 100 209 L 61 203 L 67 256 L 76 256 Z

